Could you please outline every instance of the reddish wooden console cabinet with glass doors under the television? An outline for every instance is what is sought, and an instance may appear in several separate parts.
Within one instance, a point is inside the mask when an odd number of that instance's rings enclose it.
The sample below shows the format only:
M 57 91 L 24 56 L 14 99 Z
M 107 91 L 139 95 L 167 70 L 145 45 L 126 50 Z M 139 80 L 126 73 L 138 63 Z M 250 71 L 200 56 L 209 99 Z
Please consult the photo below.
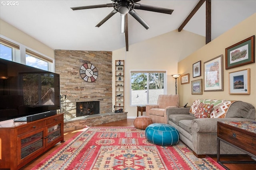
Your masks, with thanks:
M 20 169 L 58 142 L 64 142 L 63 113 L 36 121 L 0 121 L 0 169 Z

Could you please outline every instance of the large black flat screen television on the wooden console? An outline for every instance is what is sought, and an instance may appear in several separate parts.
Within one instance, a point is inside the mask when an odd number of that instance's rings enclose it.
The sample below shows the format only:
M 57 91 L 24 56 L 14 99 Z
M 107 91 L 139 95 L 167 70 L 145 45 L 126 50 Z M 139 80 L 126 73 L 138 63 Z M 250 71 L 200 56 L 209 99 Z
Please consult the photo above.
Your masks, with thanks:
M 60 109 L 60 75 L 0 59 L 0 121 Z

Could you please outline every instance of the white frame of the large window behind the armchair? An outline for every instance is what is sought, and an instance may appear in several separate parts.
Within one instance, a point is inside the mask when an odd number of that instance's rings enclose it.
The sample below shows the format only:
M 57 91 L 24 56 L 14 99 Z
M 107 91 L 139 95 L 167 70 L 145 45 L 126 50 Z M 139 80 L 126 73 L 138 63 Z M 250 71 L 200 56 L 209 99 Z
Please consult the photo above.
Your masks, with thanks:
M 167 94 L 167 70 L 130 70 L 130 107 L 138 106 L 139 104 L 133 104 L 132 105 L 132 73 L 147 73 L 147 87 L 149 87 L 149 74 L 148 73 L 156 73 L 161 72 L 164 73 L 164 94 Z M 149 104 L 149 91 L 150 89 L 147 88 L 147 102 L 146 104 Z

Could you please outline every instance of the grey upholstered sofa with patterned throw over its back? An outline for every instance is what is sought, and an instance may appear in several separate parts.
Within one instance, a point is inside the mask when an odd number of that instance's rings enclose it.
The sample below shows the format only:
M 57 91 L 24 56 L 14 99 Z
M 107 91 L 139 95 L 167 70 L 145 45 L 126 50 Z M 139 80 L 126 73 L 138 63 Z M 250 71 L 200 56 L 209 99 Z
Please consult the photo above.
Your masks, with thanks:
M 200 104 L 212 107 L 209 117 L 195 117 Z M 224 114 L 218 114 L 220 112 Z M 180 140 L 190 147 L 198 158 L 204 158 L 206 154 L 217 154 L 218 121 L 255 121 L 256 115 L 255 107 L 249 103 L 210 99 L 198 99 L 190 108 L 167 108 L 166 114 L 168 124 L 178 129 Z M 220 154 L 244 154 L 244 152 L 221 142 Z

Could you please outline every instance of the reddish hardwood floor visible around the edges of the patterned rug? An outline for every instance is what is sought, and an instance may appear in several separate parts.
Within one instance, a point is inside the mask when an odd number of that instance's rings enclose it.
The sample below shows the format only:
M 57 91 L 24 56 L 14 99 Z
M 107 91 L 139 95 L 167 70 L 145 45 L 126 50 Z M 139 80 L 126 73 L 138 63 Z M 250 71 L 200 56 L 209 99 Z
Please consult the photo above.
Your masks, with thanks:
M 97 125 L 97 127 L 134 127 L 133 125 L 134 119 L 124 119 L 121 121 L 115 121 L 111 123 L 105 123 L 102 125 Z M 74 135 L 76 135 L 77 131 L 68 131 L 64 133 L 64 140 L 68 141 L 71 139 Z M 30 170 L 34 166 L 36 166 L 39 162 L 41 162 L 44 158 L 46 158 L 50 153 L 54 152 L 54 150 L 58 149 L 61 145 L 64 145 L 65 143 L 57 143 L 54 147 L 49 149 L 48 151 L 44 152 L 44 154 L 38 156 L 34 160 L 32 160 L 30 163 L 26 164 L 24 167 L 21 168 L 21 170 Z M 210 155 L 212 159 L 217 161 L 216 155 Z M 248 155 L 232 155 L 232 156 L 225 156 L 222 157 L 225 161 L 231 161 L 231 160 L 252 160 L 250 156 Z M 225 164 L 230 170 L 256 170 L 256 164 Z

